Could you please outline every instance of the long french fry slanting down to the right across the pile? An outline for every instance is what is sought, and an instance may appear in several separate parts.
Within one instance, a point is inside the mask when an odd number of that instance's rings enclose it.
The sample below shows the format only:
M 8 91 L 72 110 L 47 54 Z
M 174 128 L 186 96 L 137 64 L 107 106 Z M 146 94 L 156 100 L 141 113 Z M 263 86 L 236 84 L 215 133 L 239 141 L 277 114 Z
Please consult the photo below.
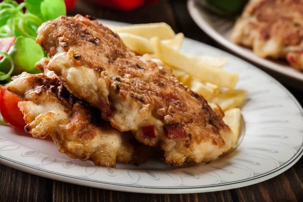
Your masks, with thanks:
M 184 54 L 162 44 L 158 37 L 151 38 L 150 44 L 154 48 L 155 55 L 160 60 L 190 75 L 194 75 L 201 81 L 207 81 L 230 89 L 233 89 L 238 81 L 238 74 L 217 68 L 200 66 Z

